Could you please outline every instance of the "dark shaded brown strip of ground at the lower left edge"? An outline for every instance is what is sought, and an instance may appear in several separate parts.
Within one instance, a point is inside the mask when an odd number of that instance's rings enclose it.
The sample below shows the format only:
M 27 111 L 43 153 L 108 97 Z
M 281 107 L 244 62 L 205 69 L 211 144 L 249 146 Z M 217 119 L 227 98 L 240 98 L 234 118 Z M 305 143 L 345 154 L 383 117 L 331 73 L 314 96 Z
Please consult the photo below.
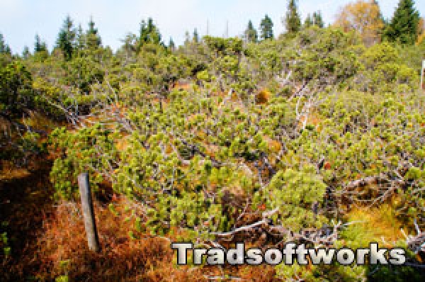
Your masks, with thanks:
M 35 257 L 42 222 L 52 213 L 51 162 L 29 174 L 0 181 L 0 234 L 7 233 L 11 254 L 0 249 L 0 281 L 32 280 L 41 262 Z M 4 243 L 3 243 L 3 247 Z

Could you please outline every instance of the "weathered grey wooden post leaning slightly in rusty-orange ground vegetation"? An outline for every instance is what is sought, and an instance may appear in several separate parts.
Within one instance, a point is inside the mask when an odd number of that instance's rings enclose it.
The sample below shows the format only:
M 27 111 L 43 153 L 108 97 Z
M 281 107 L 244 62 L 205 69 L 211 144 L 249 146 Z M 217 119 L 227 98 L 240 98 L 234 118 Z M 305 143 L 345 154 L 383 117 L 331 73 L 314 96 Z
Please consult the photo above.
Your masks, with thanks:
M 81 196 L 81 208 L 83 210 L 84 227 L 86 227 L 87 242 L 89 249 L 94 252 L 100 252 L 98 234 L 96 230 L 96 220 L 94 218 L 93 200 L 89 184 L 89 174 L 82 173 L 78 176 L 78 186 Z

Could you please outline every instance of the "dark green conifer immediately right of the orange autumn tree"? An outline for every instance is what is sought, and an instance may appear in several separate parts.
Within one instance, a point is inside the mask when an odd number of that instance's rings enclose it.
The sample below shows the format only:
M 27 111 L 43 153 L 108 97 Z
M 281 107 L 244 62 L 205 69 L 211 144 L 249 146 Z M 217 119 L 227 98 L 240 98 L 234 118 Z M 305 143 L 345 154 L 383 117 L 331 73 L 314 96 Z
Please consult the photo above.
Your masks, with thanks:
M 394 16 L 385 29 L 384 38 L 412 45 L 418 35 L 419 12 L 414 8 L 414 0 L 400 0 Z

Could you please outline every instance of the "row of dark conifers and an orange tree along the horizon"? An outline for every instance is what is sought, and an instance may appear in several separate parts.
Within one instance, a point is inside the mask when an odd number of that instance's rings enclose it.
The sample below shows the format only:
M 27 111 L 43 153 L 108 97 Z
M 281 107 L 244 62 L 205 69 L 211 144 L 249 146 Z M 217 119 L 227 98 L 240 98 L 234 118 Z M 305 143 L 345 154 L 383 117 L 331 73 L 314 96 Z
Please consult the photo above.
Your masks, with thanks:
M 282 18 L 285 33 L 280 36 L 293 36 L 300 30 L 317 26 L 324 28 L 325 23 L 321 11 L 307 13 L 305 21 L 302 22 L 301 13 L 297 6 L 297 0 L 288 0 L 287 11 Z M 424 18 L 419 16 L 419 11 L 414 6 L 414 0 L 400 0 L 392 18 L 385 19 L 380 11 L 380 6 L 376 0 L 358 0 L 342 7 L 336 15 L 333 26 L 342 28 L 345 32 L 354 31 L 360 35 L 365 45 L 373 45 L 382 41 L 412 45 L 420 43 L 424 39 Z M 273 39 L 273 21 L 267 14 L 261 19 L 259 29 L 254 27 L 251 20 L 248 21 L 246 30 L 242 38 L 247 43 L 258 43 L 260 40 Z M 124 49 L 140 51 L 140 47 L 145 43 L 161 44 L 162 35 L 152 18 L 140 23 L 139 34 L 128 33 L 123 41 Z M 200 35 L 197 28 L 193 34 L 186 31 L 185 44 L 190 42 L 198 43 Z M 65 18 L 60 33 L 57 35 L 54 50 L 62 50 L 64 57 L 69 60 L 77 50 L 84 48 L 96 48 L 101 46 L 102 40 L 95 28 L 93 18 L 90 18 L 87 30 L 83 30 L 81 25 L 74 26 L 72 18 Z M 174 50 L 176 45 L 172 38 L 169 38 L 167 45 Z M 47 44 L 35 35 L 34 53 L 48 52 Z M 6 44 L 4 36 L 0 33 L 0 53 L 11 54 L 11 48 Z M 24 47 L 23 57 L 28 57 L 30 50 Z

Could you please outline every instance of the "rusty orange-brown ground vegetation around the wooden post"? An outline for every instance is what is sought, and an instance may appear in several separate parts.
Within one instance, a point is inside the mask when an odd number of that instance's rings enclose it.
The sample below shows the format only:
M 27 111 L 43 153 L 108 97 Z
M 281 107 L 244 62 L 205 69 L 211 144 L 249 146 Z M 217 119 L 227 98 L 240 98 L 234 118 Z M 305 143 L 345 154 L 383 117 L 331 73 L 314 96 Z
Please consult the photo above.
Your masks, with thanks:
M 271 266 L 177 266 L 170 242 L 183 234 L 174 230 L 169 239 L 152 237 L 142 223 L 137 225 L 136 218 L 144 216 L 137 212 L 141 209 L 111 190 L 112 196 L 95 202 L 101 252 L 91 252 L 79 203 L 52 206 L 46 201 L 52 191 L 49 169 L 47 163 L 1 182 L 1 220 L 9 222 L 12 242 L 11 256 L 1 257 L 4 281 L 54 281 L 61 276 L 69 281 L 208 281 L 208 276 L 223 276 L 222 271 L 247 281 L 276 281 Z

